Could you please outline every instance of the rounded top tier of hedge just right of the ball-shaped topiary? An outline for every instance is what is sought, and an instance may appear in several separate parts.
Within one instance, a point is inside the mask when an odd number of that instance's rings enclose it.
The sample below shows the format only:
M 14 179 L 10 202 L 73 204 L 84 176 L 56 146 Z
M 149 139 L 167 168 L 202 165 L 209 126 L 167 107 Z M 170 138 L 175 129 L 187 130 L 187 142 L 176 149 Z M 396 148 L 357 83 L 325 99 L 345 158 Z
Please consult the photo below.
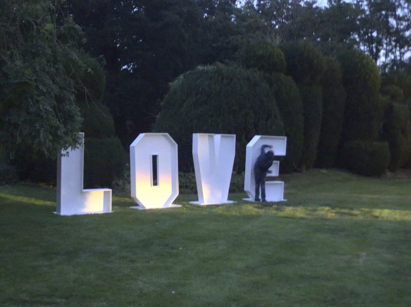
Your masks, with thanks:
M 326 63 L 323 54 L 307 41 L 289 42 L 281 45 L 287 63 L 286 74 L 297 83 L 321 85 Z

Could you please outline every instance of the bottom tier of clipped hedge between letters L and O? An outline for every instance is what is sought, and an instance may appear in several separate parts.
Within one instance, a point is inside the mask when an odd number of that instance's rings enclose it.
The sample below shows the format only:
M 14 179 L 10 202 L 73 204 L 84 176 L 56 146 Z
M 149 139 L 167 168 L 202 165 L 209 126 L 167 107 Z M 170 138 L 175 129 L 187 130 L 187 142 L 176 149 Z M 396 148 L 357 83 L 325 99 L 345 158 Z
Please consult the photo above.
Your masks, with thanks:
M 127 154 L 118 137 L 85 138 L 84 187 L 111 187 L 120 178 L 127 163 Z

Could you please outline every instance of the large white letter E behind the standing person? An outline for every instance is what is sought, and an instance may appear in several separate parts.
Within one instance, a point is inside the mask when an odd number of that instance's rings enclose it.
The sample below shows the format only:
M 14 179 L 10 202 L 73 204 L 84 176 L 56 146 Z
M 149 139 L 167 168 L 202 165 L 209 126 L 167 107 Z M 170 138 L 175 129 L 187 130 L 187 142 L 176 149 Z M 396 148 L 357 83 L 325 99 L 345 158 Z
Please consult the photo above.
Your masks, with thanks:
M 286 136 L 265 136 L 256 135 L 247 144 L 245 151 L 245 178 L 244 178 L 244 191 L 248 195 L 247 201 L 255 200 L 255 179 L 254 179 L 254 163 L 257 157 L 260 155 L 262 145 L 271 145 L 272 148 L 266 148 L 267 150 L 272 150 L 275 156 L 285 156 L 286 155 Z M 272 171 L 268 176 L 278 176 L 279 162 L 275 161 L 269 169 Z M 278 184 L 270 184 L 270 181 L 266 181 L 266 200 L 269 201 L 284 201 L 284 183 L 281 189 L 273 188 Z M 279 181 L 272 181 L 279 182 Z M 261 195 L 261 193 L 260 193 Z M 275 199 L 275 200 L 271 200 Z

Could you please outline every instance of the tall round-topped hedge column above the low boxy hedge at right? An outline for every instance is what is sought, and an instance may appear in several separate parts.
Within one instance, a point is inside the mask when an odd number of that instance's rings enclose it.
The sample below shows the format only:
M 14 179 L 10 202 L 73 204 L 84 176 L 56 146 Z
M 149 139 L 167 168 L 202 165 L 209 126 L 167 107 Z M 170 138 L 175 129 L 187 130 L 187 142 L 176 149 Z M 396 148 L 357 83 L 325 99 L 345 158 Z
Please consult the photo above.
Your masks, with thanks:
M 338 59 L 347 92 L 342 142 L 377 140 L 383 111 L 379 68 L 370 56 L 358 50 L 347 51 Z

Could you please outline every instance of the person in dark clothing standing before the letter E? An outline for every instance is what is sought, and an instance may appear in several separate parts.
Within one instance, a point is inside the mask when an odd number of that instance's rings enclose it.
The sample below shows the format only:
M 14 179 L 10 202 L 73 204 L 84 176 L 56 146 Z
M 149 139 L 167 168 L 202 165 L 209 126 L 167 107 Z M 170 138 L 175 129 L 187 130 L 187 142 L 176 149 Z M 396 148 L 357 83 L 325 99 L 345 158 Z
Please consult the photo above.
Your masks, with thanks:
M 270 145 L 262 145 L 261 146 L 261 153 L 259 157 L 256 159 L 254 164 L 254 178 L 256 182 L 256 199 L 255 201 L 260 201 L 260 185 L 261 185 L 261 200 L 266 201 L 266 176 L 267 173 L 271 173 L 268 170 L 272 162 L 274 162 L 274 152 L 272 150 L 268 150 L 265 152 L 266 148 L 272 148 Z

